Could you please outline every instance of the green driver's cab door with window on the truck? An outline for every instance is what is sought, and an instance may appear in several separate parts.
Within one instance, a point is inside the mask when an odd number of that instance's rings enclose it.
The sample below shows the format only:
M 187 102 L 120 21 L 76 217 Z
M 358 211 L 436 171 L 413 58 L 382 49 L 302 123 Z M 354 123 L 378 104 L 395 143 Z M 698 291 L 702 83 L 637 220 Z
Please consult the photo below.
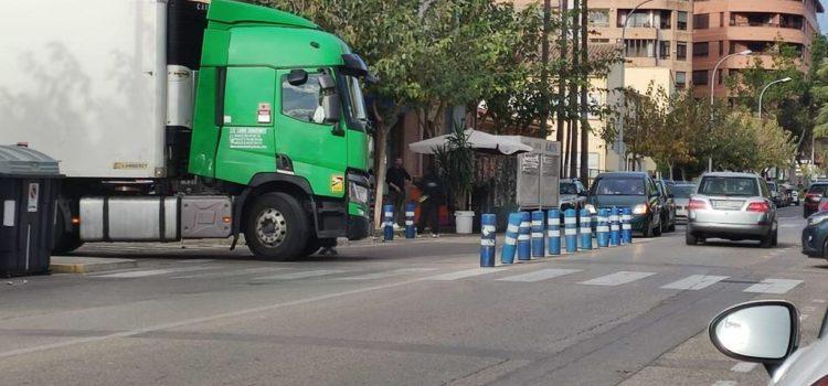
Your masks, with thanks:
M 301 68 L 300 68 L 301 69 Z M 342 122 L 325 122 L 321 106 L 323 93 L 318 68 L 305 68 L 307 81 L 290 84 L 290 69 L 277 72 L 278 104 L 276 152 L 290 159 L 296 175 L 308 180 L 317 195 L 344 195 L 344 172 L 348 162 L 347 131 Z

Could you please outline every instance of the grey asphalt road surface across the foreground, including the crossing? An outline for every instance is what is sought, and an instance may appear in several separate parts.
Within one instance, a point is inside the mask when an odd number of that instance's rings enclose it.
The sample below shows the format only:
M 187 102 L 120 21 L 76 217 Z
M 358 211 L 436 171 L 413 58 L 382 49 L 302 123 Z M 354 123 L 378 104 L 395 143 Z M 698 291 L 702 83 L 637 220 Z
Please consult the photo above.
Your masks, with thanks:
M 220 246 L 92 245 L 138 268 L 0 286 L 2 385 L 754 385 L 707 323 L 761 298 L 828 300 L 828 265 L 779 247 L 631 246 L 479 269 L 475 237 L 269 262 Z

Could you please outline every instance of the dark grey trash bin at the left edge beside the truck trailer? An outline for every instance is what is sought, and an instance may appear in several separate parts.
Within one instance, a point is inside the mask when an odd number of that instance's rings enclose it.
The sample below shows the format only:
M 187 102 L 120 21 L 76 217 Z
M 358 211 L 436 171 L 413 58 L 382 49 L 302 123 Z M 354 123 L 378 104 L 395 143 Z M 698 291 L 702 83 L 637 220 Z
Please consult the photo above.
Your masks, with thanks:
M 0 146 L 0 276 L 49 274 L 60 178 L 49 156 Z

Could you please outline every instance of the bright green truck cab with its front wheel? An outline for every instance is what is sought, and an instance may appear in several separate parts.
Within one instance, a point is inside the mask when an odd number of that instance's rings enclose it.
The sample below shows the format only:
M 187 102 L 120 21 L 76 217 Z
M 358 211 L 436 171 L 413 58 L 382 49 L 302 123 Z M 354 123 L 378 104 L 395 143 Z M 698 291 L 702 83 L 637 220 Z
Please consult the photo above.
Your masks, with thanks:
M 211 4 L 189 171 L 246 186 L 234 218 L 257 255 L 299 254 L 294 226 L 309 228 L 306 250 L 367 236 L 365 76 L 344 42 L 305 19 Z

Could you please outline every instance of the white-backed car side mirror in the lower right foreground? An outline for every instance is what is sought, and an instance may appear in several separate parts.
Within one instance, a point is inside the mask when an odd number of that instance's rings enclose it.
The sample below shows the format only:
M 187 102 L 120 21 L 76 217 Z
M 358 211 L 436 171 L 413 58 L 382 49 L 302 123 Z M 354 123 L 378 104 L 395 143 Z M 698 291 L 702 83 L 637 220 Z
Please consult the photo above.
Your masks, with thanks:
M 731 307 L 713 318 L 710 340 L 724 355 L 778 367 L 799 345 L 799 312 L 782 300 L 761 300 Z

